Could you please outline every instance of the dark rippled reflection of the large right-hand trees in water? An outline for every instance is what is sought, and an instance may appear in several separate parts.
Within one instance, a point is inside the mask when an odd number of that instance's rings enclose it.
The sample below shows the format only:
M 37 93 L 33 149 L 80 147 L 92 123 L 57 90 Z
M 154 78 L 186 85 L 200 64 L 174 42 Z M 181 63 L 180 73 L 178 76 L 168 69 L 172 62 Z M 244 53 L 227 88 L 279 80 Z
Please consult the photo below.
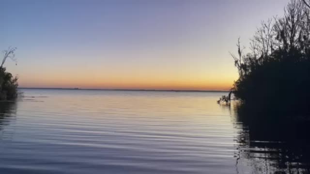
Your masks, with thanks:
M 310 174 L 309 123 L 273 120 L 276 113 L 241 106 L 235 113 L 234 124 L 240 130 L 237 173 L 240 161 L 246 161 L 252 174 Z

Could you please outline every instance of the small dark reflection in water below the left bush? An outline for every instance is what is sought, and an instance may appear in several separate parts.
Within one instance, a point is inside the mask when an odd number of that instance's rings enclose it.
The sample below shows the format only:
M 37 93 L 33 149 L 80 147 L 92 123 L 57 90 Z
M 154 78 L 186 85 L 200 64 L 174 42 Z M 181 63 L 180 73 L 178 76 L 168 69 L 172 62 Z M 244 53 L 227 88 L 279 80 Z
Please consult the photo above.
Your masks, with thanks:
M 8 125 L 12 116 L 16 114 L 16 102 L 0 102 L 0 130 Z

